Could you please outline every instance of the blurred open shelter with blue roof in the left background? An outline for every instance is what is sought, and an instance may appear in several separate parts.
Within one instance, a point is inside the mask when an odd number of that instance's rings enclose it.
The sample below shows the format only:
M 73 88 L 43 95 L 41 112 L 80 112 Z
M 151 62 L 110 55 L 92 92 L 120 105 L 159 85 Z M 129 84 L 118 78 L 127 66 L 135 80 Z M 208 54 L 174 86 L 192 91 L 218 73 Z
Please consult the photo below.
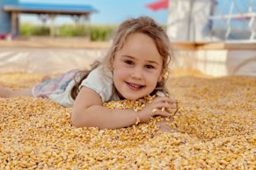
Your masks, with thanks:
M 0 0 L 0 36 L 11 34 L 18 35 L 18 15 L 20 13 L 31 13 L 48 15 L 54 20 L 56 15 L 71 15 L 88 18 L 97 12 L 91 5 L 85 4 L 36 4 L 20 3 L 18 0 Z M 53 23 L 53 22 L 52 22 Z M 51 33 L 54 35 L 54 25 L 51 25 Z

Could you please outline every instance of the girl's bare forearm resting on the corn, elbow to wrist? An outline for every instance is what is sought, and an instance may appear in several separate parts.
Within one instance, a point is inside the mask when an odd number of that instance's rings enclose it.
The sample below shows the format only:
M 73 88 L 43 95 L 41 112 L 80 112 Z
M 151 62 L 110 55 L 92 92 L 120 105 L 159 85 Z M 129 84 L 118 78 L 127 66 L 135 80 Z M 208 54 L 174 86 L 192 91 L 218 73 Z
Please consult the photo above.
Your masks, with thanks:
M 85 110 L 72 113 L 72 124 L 77 127 L 99 127 L 117 129 L 135 124 L 138 113 L 134 110 L 111 110 L 100 105 L 93 105 Z

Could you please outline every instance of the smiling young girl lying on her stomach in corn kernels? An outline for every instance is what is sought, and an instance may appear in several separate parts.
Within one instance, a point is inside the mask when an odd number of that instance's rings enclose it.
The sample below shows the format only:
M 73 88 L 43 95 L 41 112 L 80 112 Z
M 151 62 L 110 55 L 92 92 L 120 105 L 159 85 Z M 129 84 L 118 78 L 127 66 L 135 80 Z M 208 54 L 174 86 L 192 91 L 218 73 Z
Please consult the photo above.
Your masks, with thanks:
M 0 89 L 0 97 L 47 97 L 63 106 L 72 106 L 71 122 L 77 127 L 116 129 L 150 117 L 170 116 L 162 108 L 175 109 L 174 101 L 157 96 L 143 110 L 111 110 L 102 103 L 135 100 L 165 89 L 171 60 L 169 39 L 164 30 L 148 17 L 124 21 L 113 38 L 113 46 L 102 63 L 90 71 L 71 70 L 33 89 Z

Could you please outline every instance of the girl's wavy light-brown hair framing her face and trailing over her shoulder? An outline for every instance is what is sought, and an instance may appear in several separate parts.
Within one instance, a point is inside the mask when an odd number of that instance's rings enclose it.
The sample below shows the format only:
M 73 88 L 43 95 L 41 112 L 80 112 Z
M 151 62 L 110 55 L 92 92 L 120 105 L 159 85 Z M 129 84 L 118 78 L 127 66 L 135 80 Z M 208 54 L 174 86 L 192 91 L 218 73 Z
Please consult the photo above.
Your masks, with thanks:
M 154 19 L 149 17 L 130 18 L 121 23 L 121 25 L 117 29 L 115 36 L 113 37 L 113 44 L 106 53 L 103 62 L 100 63 L 99 61 L 96 61 L 93 64 L 93 67 L 91 67 L 91 70 L 99 67 L 99 65 L 103 65 L 103 67 L 109 70 L 113 70 L 113 60 L 115 57 L 115 53 L 121 50 L 121 48 L 125 45 L 128 36 L 134 33 L 143 33 L 154 40 L 157 46 L 158 53 L 160 53 L 163 58 L 163 67 L 161 74 L 165 75 L 162 81 L 157 82 L 156 89 L 164 90 L 165 81 L 167 80 L 169 73 L 168 66 L 173 56 L 171 53 L 171 45 L 164 29 L 160 25 L 158 25 Z M 87 77 L 91 70 L 84 70 L 80 72 L 78 81 L 76 81 L 76 85 L 71 90 L 71 96 L 73 99 L 77 97 L 77 94 L 79 92 L 78 88 L 81 82 Z

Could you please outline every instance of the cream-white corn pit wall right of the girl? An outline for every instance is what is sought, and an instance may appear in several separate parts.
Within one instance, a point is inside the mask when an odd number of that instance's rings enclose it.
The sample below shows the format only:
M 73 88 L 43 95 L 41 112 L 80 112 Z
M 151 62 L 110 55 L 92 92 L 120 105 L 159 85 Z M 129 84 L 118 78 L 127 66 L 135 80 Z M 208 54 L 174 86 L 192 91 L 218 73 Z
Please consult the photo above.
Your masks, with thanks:
M 256 76 L 255 50 L 197 50 L 175 51 L 171 67 L 196 69 L 213 76 Z

